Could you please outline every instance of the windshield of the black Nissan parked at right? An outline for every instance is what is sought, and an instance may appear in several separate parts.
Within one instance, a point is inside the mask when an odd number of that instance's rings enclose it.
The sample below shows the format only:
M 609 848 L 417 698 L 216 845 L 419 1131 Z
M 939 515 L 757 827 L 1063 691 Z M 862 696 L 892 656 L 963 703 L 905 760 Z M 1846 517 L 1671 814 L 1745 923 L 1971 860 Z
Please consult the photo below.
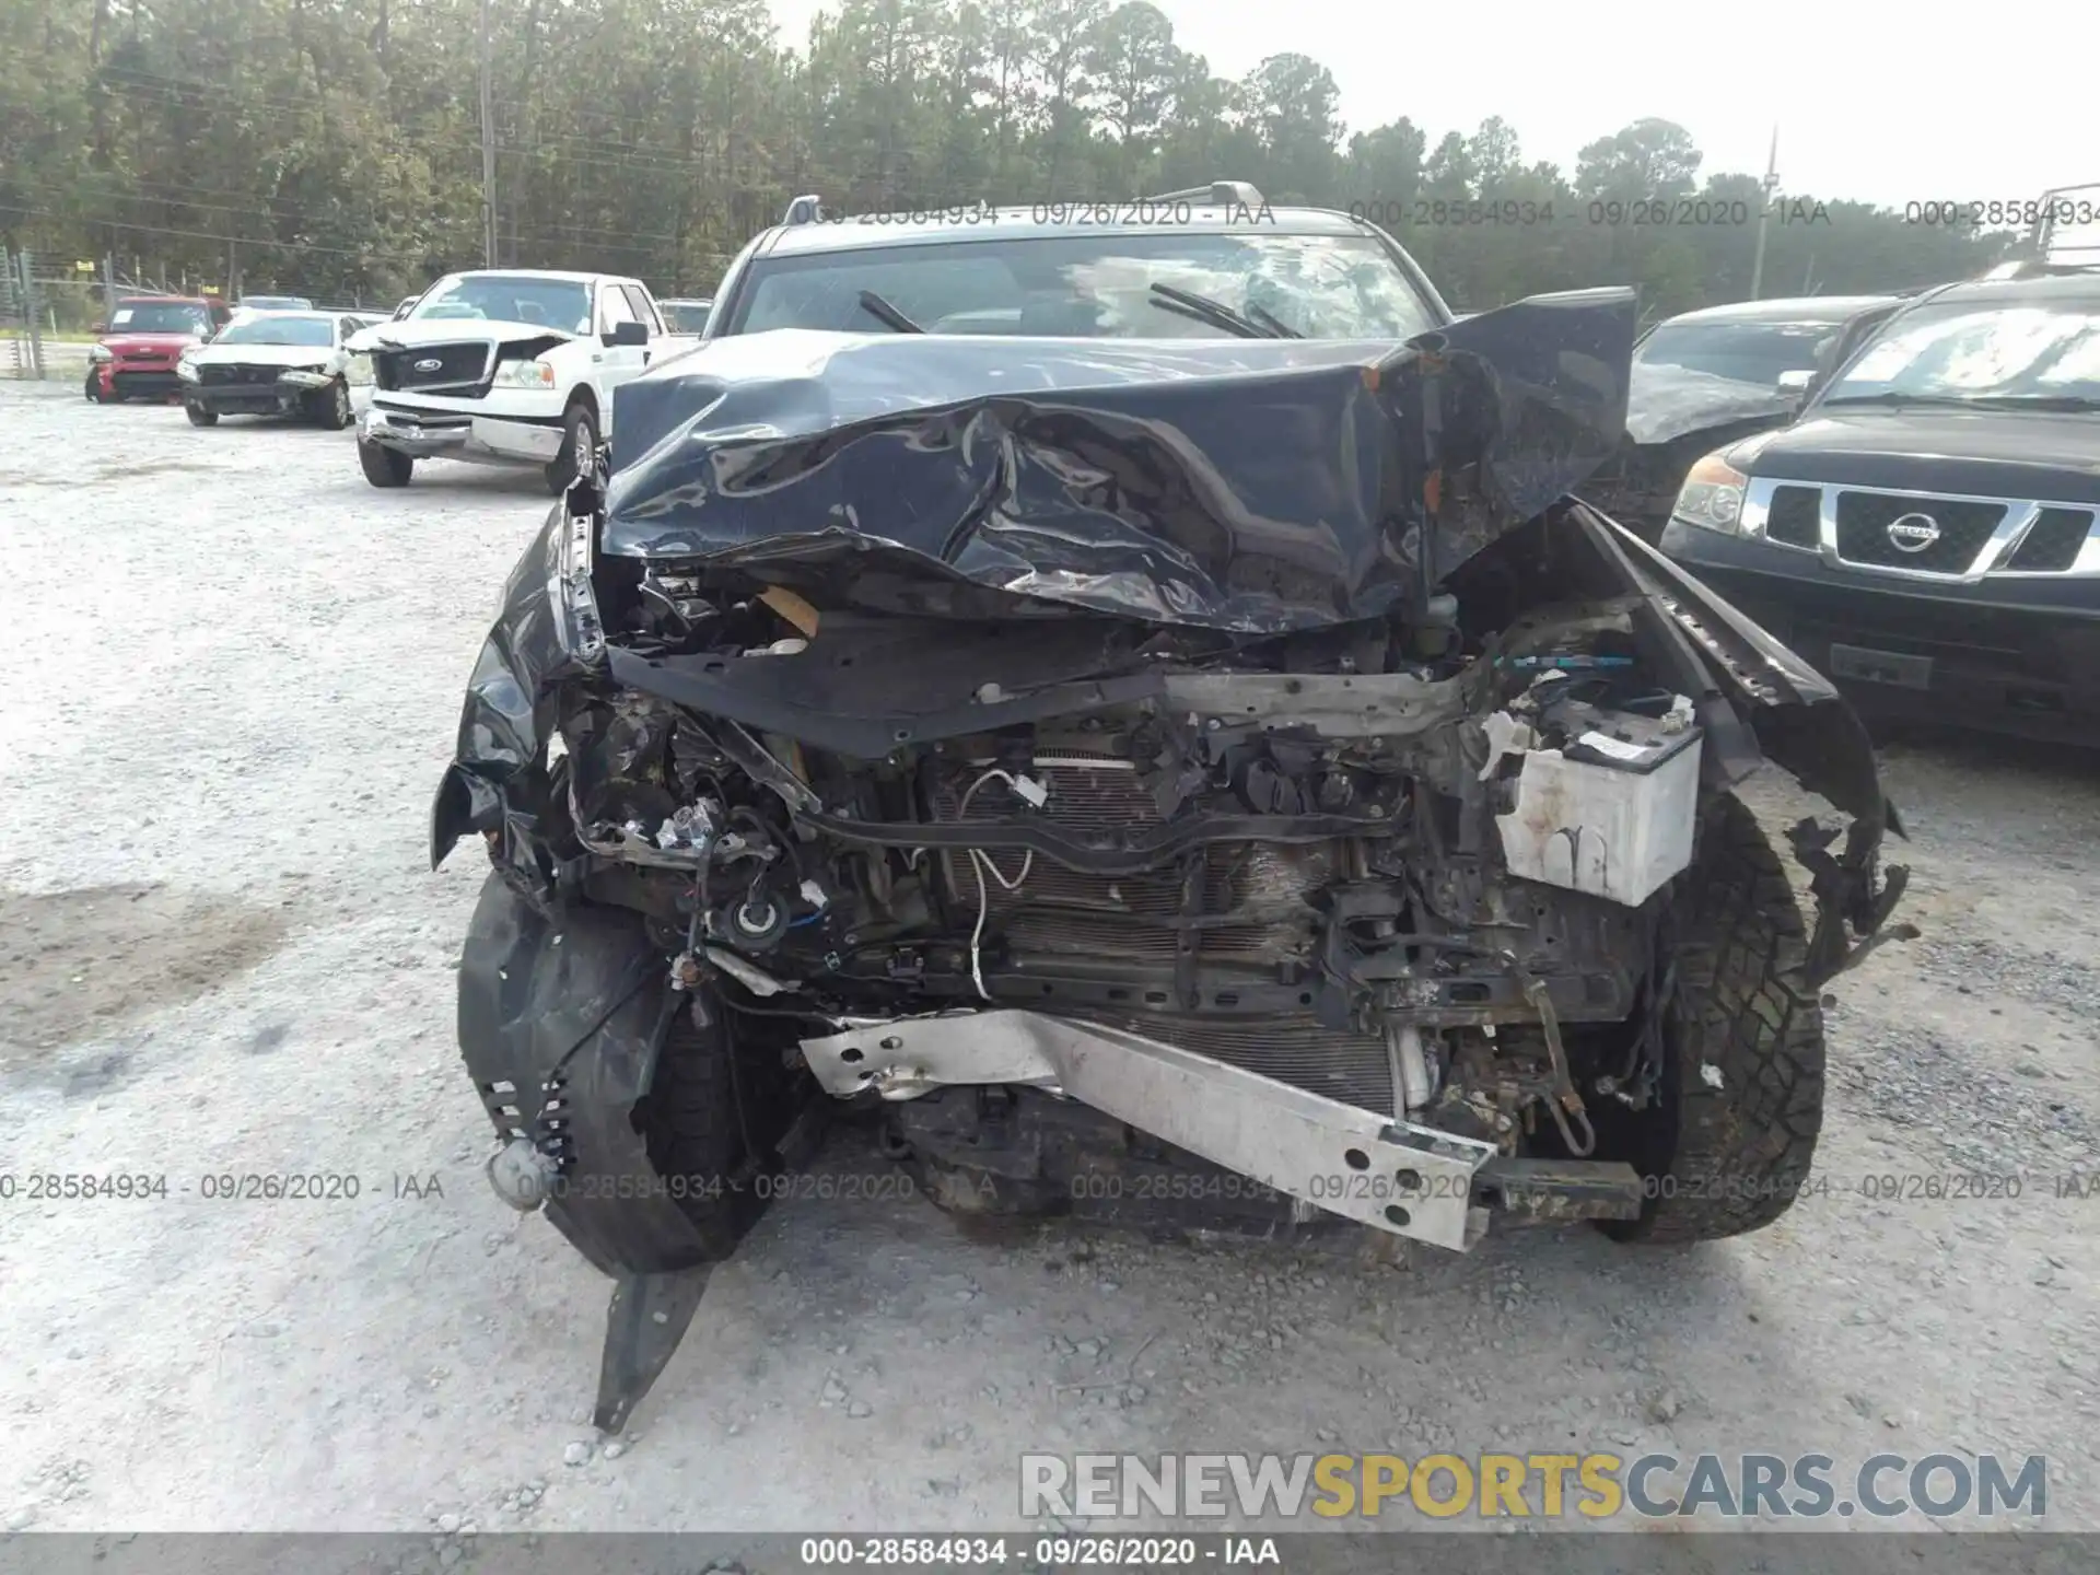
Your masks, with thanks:
M 1949 300 L 1907 311 L 1823 397 L 2100 405 L 2100 298 Z

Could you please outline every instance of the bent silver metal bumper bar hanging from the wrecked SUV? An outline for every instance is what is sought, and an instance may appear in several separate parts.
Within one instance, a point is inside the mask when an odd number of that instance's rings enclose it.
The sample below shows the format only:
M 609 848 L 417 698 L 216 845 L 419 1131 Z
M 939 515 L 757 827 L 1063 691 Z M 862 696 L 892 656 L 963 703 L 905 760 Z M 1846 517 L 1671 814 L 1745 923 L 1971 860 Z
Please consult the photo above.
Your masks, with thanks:
M 802 1040 L 838 1096 L 916 1098 L 943 1084 L 1027 1084 L 1388 1235 L 1470 1250 L 1474 1180 L 1495 1147 L 1394 1121 L 1222 1060 L 1042 1012 L 897 1018 Z

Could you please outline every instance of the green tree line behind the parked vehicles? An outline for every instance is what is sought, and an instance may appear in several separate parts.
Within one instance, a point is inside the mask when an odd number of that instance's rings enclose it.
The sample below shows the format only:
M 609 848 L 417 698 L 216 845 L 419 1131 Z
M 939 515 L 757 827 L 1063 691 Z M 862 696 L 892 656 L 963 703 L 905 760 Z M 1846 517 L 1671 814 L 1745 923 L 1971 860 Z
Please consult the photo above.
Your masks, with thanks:
M 874 212 L 1239 178 L 1361 204 L 1460 307 L 1636 284 L 1661 315 L 1749 294 L 1766 206 L 1661 120 L 1573 170 L 1527 162 L 1502 118 L 1346 132 L 1319 61 L 1218 76 L 1144 0 L 840 0 L 800 42 L 762 0 L 491 0 L 491 19 L 500 260 L 664 294 L 712 290 L 804 191 Z M 0 242 L 412 292 L 481 262 L 479 67 L 479 0 L 0 0 Z M 1968 277 L 2006 244 L 1861 202 L 1772 208 L 1766 296 Z

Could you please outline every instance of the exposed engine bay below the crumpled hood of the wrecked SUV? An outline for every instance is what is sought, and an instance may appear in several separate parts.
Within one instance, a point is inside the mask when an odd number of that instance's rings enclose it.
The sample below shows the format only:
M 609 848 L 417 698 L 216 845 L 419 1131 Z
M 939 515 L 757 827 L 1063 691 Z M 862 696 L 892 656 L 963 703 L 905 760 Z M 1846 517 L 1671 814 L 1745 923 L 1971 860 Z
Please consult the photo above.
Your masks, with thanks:
M 578 689 L 561 716 L 582 892 L 655 918 L 693 983 L 840 1023 L 1029 1006 L 1396 1115 L 1457 1088 L 1468 1046 L 1522 1018 L 1495 1084 L 1445 1102 L 1457 1130 L 1510 1134 L 1541 1105 L 1567 1117 L 1548 1025 L 1630 1016 L 1644 953 L 1638 905 L 1577 888 L 1630 869 L 1632 836 L 1606 844 L 1598 806 L 1535 825 L 1569 790 L 1531 788 L 1525 762 L 1560 752 L 1630 825 L 1655 769 L 1630 764 L 1670 750 L 1690 775 L 1670 825 L 1642 827 L 1670 848 L 1638 878 L 1653 890 L 1690 857 L 1699 729 L 1623 653 L 1623 613 L 1579 620 L 1581 651 L 1541 628 L 1554 666 L 1537 668 L 1527 643 L 1472 664 L 1455 630 L 1415 632 L 1449 647 L 1422 653 L 1380 624 L 1224 643 L 796 607 L 811 638 L 764 598 L 645 590 L 634 611 L 662 647 L 638 680 L 657 693 Z M 1027 710 L 1056 710 L 867 758 L 811 743 L 821 722 L 781 718 L 790 733 L 666 697 L 754 662 L 842 731 L 857 695 L 924 693 L 949 668 L 976 680 L 964 710 L 1012 708 L 985 674 L 1031 670 Z M 1067 685 L 1092 693 L 1054 695 Z M 1520 817 L 1508 836 L 1527 853 L 1560 838 L 1554 884 L 1508 874 L 1499 823 Z

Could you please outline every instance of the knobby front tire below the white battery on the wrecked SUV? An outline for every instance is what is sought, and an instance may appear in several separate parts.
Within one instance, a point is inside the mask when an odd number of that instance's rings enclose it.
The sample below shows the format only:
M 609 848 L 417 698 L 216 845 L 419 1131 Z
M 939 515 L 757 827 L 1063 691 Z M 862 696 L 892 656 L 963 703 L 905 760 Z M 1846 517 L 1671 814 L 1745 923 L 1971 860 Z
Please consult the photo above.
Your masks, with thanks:
M 1779 855 L 1739 798 L 1701 827 L 1659 964 L 1676 970 L 1661 1021 L 1657 1102 L 1592 1100 L 1598 1159 L 1646 1182 L 1621 1241 L 1714 1241 L 1758 1231 L 1808 1182 L 1823 1130 L 1823 1008 L 1808 928 Z

